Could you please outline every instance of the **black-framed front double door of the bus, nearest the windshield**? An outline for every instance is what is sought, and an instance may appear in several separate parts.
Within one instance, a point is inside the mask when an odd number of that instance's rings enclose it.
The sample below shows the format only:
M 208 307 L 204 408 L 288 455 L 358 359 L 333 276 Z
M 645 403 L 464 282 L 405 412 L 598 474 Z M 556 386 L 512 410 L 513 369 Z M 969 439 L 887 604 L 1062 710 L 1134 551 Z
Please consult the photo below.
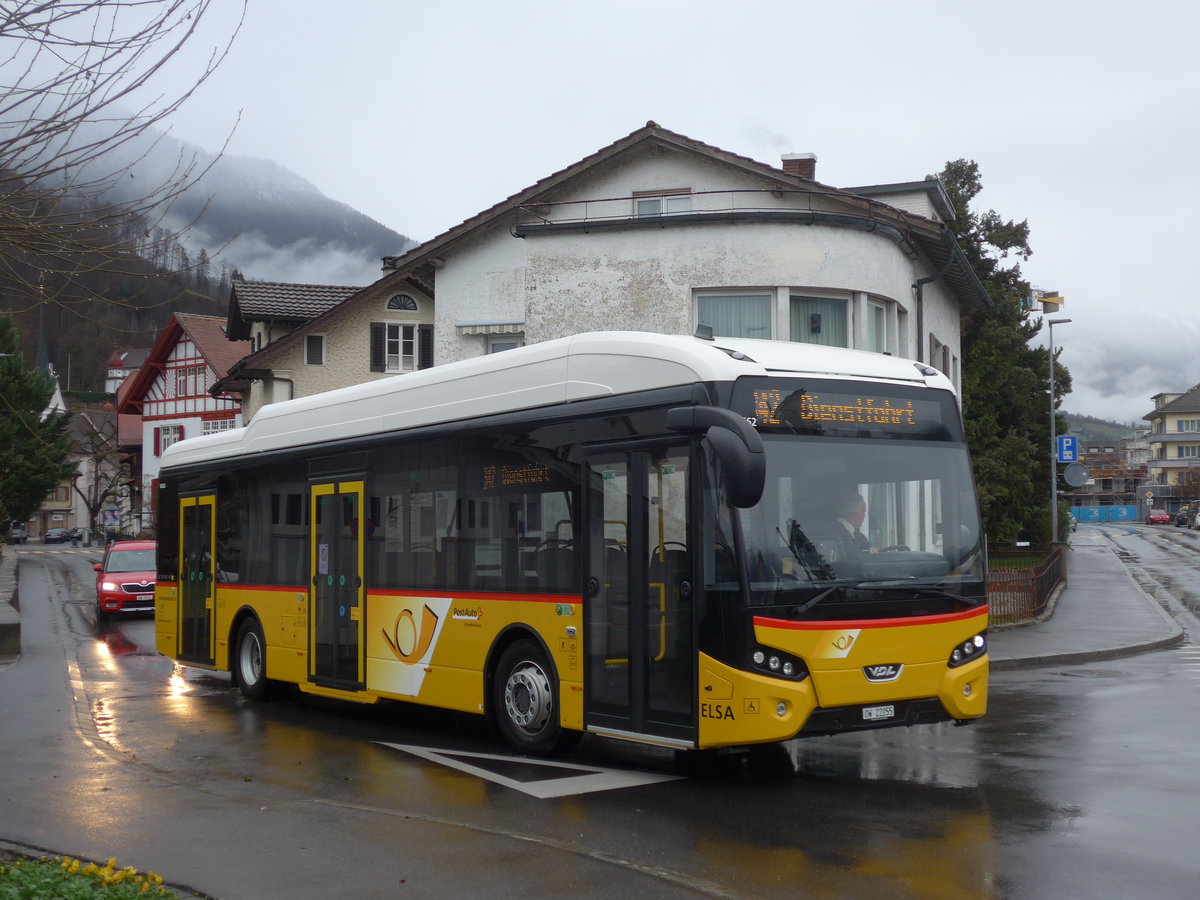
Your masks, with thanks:
M 592 731 L 695 740 L 689 450 L 588 455 L 584 718 Z

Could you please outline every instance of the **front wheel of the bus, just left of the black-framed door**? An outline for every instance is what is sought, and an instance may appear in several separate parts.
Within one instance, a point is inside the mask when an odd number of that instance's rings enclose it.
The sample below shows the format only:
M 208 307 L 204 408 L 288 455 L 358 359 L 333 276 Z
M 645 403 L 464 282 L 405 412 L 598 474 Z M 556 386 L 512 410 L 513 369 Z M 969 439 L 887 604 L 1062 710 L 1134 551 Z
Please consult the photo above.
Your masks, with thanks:
M 554 668 L 535 641 L 517 641 L 500 654 L 492 689 L 500 734 L 512 749 L 542 755 L 574 743 L 558 721 Z

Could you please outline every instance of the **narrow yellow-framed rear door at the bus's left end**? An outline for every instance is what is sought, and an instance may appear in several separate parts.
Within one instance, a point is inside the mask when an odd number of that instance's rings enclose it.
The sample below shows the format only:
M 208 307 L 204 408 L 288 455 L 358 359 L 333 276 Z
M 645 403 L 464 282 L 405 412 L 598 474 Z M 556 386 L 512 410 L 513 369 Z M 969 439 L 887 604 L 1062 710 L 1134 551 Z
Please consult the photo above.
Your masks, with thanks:
M 211 666 L 216 641 L 216 497 L 179 500 L 179 658 Z

